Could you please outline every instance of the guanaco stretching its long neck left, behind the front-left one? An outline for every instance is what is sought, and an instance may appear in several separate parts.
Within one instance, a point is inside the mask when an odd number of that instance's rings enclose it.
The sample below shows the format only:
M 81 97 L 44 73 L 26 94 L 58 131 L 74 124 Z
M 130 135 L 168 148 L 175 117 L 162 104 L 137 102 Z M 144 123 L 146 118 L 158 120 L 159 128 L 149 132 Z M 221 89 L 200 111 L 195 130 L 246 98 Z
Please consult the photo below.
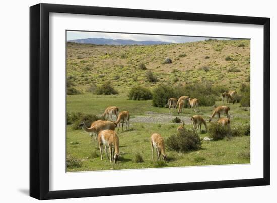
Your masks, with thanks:
M 111 121 L 97 120 L 92 122 L 90 128 L 86 126 L 85 121 L 81 121 L 79 126 L 82 127 L 86 132 L 90 133 L 91 136 L 93 136 L 93 135 L 98 135 L 98 133 L 101 130 L 105 130 L 105 129 L 114 130 L 117 124 Z

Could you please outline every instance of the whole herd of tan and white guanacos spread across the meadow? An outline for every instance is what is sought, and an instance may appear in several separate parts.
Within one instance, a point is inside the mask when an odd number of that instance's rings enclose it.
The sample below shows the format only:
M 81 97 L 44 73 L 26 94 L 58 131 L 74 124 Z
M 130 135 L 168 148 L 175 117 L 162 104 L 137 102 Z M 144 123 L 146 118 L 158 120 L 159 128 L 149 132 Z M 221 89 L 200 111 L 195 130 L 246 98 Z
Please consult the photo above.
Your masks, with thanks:
M 234 100 L 234 96 L 236 95 L 236 91 L 224 92 L 222 93 L 222 100 L 227 102 L 230 100 Z M 168 99 L 168 108 L 169 113 L 171 113 L 171 108 L 174 110 L 177 109 L 178 106 L 178 114 L 183 112 L 183 108 L 185 106 L 185 102 L 187 101 L 188 107 L 194 109 L 194 112 L 198 111 L 199 100 L 197 98 L 189 98 L 188 96 L 181 96 L 178 100 L 176 98 L 169 98 Z M 206 122 L 212 121 L 212 118 L 217 115 L 218 117 L 218 124 L 222 126 L 227 126 L 230 129 L 230 115 L 229 115 L 230 108 L 228 106 L 218 106 L 214 109 L 212 116 L 209 120 L 204 120 L 200 115 L 194 115 L 191 117 L 191 122 L 193 124 L 193 130 L 196 132 L 200 128 L 202 130 L 202 124 L 205 126 L 205 130 L 207 131 L 207 124 Z M 126 124 L 126 129 L 129 129 L 130 126 L 130 114 L 128 111 L 122 111 L 118 114 L 119 109 L 116 106 L 110 106 L 106 108 L 105 112 L 103 113 L 103 117 L 109 119 L 111 118 L 112 121 L 106 120 L 97 120 L 91 123 L 90 127 L 87 127 L 85 121 L 80 123 L 80 127 L 82 127 L 86 132 L 90 133 L 91 137 L 94 137 L 97 140 L 97 145 L 100 150 L 100 157 L 103 160 L 102 150 L 105 147 L 105 152 L 107 158 L 110 162 L 114 161 L 115 163 L 119 157 L 119 137 L 115 132 L 115 128 L 118 126 L 118 130 L 120 128 L 120 123 L 122 125 L 122 131 L 124 131 L 124 123 Z M 221 118 L 221 114 L 226 114 L 227 118 Z M 113 115 L 115 115 L 116 120 L 113 121 Z M 182 125 L 177 128 L 177 131 L 184 131 L 184 122 L 182 121 Z M 161 160 L 161 155 L 164 160 L 166 160 L 166 152 L 165 152 L 165 141 L 163 137 L 159 133 L 154 133 L 150 137 L 151 143 L 151 151 L 152 151 L 152 159 L 154 159 L 154 149 L 156 149 L 157 159 Z M 107 150 L 109 149 L 109 155 Z

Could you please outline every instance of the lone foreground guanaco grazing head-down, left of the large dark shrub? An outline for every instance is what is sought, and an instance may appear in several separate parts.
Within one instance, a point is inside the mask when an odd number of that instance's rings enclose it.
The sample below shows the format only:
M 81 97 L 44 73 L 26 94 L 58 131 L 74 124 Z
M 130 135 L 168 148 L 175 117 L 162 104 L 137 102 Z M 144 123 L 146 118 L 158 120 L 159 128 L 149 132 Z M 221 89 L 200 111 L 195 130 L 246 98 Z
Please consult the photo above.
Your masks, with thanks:
M 163 159 L 166 161 L 164 138 L 160 134 L 154 133 L 151 135 L 150 142 L 151 142 L 152 159 L 154 159 L 153 150 L 154 148 L 156 148 L 158 160 L 161 160 L 161 154 L 162 154 Z

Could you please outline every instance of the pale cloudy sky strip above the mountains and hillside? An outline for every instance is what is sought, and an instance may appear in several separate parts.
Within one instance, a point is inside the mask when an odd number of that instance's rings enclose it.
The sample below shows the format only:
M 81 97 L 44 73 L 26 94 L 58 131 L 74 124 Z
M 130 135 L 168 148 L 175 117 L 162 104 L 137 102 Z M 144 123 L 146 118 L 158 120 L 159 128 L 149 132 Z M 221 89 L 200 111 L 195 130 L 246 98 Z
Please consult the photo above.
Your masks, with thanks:
M 152 40 L 152 41 L 163 41 L 163 42 L 171 42 L 171 43 L 185 43 L 185 42 L 203 41 L 212 37 L 189 37 L 189 36 L 67 31 L 67 40 L 86 39 L 86 38 L 110 38 L 110 39 L 125 39 L 125 40 L 135 40 L 135 41 Z M 212 38 L 212 39 L 224 40 L 228 38 Z

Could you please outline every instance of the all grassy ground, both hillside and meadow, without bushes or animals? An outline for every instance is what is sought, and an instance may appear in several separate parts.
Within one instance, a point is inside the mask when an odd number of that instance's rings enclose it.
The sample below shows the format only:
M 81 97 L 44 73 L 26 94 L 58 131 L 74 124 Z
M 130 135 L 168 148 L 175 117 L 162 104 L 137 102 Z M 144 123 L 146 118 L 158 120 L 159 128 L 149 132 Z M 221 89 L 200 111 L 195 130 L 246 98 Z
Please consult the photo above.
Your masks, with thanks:
M 165 57 L 170 57 L 173 63 L 163 64 Z M 144 63 L 147 70 L 138 68 L 140 63 Z M 157 76 L 157 82 L 146 80 L 145 73 L 149 70 Z M 67 112 L 100 116 L 108 106 L 117 106 L 119 111 L 130 112 L 130 129 L 122 132 L 120 128 L 118 132 L 120 156 L 117 164 L 110 163 L 105 153 L 101 161 L 96 140 L 84 130 L 73 130 L 72 125 L 67 125 L 67 159 L 76 162 L 72 167 L 67 167 L 67 171 L 250 163 L 250 136 L 219 141 L 202 140 L 202 148 L 197 151 L 182 153 L 167 150 L 168 162 L 158 162 L 156 156 L 152 160 L 150 136 L 160 133 L 167 139 L 176 134 L 180 126 L 172 122 L 176 116 L 185 122 L 186 129 L 192 129 L 191 117 L 195 113 L 191 108 L 185 108 L 180 115 L 169 113 L 168 108 L 154 107 L 152 100 L 134 101 L 127 97 L 129 90 L 137 85 L 153 90 L 160 84 L 182 86 L 203 80 L 239 91 L 242 83 L 249 84 L 249 74 L 249 40 L 211 40 L 151 46 L 67 43 L 67 81 L 82 92 L 67 95 Z M 119 94 L 95 95 L 87 91 L 92 84 L 98 86 L 107 81 Z M 214 106 L 200 106 L 197 114 L 207 120 L 215 106 L 224 104 L 220 96 L 216 100 Z M 240 103 L 228 106 L 232 127 L 250 123 L 250 107 L 241 107 Z M 199 133 L 201 139 L 210 136 L 209 125 L 208 132 Z M 138 161 L 137 156 L 142 157 L 142 160 Z

